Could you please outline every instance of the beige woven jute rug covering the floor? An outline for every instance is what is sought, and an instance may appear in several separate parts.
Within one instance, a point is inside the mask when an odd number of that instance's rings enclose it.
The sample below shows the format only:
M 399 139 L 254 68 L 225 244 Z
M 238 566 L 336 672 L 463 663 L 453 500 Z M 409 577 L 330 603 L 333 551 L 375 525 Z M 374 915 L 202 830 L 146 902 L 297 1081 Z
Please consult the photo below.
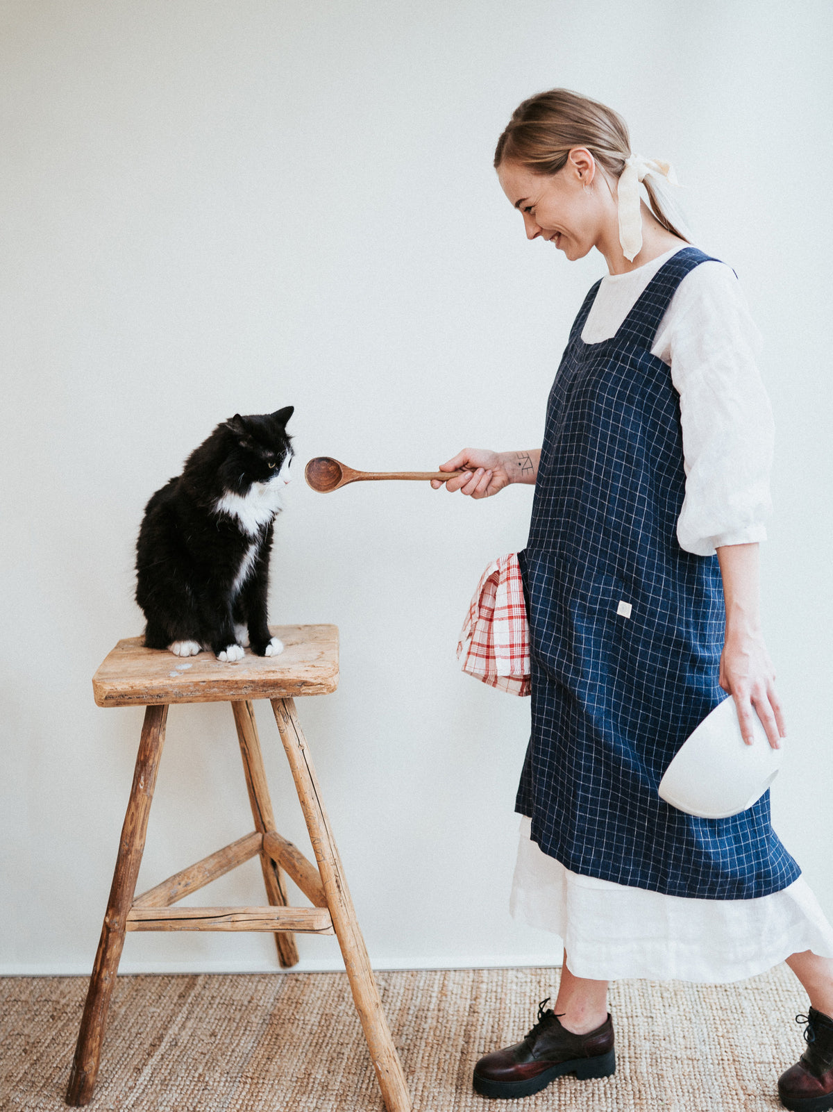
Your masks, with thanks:
M 415 1112 L 756 1112 L 804 1043 L 786 965 L 730 985 L 615 981 L 616 1072 L 519 1101 L 473 1092 L 478 1058 L 516 1042 L 558 969 L 378 973 Z M 0 980 L 0 1109 L 63 1109 L 87 980 Z M 382 1112 L 343 973 L 124 976 L 91 1110 Z

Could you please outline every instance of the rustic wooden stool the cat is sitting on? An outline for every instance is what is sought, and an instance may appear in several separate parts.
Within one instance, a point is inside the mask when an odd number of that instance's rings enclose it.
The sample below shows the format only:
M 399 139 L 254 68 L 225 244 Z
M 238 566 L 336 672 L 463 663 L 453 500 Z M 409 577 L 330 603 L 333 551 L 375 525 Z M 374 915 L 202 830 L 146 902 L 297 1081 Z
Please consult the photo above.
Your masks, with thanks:
M 285 645 L 280 656 L 261 657 L 247 652 L 234 664 L 221 663 L 211 653 L 181 661 L 171 653 L 144 648 L 141 637 L 131 637 L 119 642 L 93 676 L 99 706 L 145 706 L 147 711 L 72 1062 L 68 1104 L 87 1104 L 92 1096 L 126 931 L 274 931 L 284 967 L 298 962 L 294 932 L 335 934 L 384 1103 L 389 1112 L 410 1112 L 402 1066 L 355 920 L 312 758 L 295 716 L 294 695 L 323 695 L 335 689 L 339 631 L 333 625 L 309 625 L 280 626 L 272 633 Z M 318 868 L 275 830 L 251 704 L 254 698 L 272 702 Z M 254 831 L 134 898 L 168 705 L 224 701 L 234 712 Z M 270 906 L 172 906 L 255 855 L 260 855 Z M 287 875 L 310 900 L 311 907 L 287 906 Z

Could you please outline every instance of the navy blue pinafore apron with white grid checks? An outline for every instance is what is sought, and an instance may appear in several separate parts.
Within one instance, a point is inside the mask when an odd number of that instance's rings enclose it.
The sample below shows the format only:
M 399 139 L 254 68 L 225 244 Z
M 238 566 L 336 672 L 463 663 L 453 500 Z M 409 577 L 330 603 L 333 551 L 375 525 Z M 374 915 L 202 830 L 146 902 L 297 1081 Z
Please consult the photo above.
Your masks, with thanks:
M 669 895 L 747 900 L 801 870 L 770 822 L 769 790 L 729 818 L 699 818 L 658 786 L 723 698 L 716 556 L 680 547 L 685 493 L 679 395 L 651 354 L 694 247 L 654 275 L 615 336 L 581 338 L 546 410 L 526 548 L 532 736 L 515 811 L 568 868 Z

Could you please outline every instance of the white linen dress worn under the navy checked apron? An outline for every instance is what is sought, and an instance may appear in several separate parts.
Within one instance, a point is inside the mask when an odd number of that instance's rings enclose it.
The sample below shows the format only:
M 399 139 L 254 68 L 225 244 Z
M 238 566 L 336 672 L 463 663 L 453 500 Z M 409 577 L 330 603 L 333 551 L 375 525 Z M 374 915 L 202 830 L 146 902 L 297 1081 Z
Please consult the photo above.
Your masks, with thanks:
M 582 329 L 613 336 L 659 268 L 678 250 L 606 275 Z M 651 348 L 680 395 L 685 497 L 678 539 L 711 556 L 763 540 L 770 513 L 773 420 L 756 366 L 761 334 L 731 267 L 707 261 L 680 282 Z M 543 853 L 521 818 L 510 911 L 564 943 L 582 977 L 678 977 L 719 984 L 812 950 L 833 957 L 833 926 L 803 875 L 752 900 L 671 896 L 574 873 Z

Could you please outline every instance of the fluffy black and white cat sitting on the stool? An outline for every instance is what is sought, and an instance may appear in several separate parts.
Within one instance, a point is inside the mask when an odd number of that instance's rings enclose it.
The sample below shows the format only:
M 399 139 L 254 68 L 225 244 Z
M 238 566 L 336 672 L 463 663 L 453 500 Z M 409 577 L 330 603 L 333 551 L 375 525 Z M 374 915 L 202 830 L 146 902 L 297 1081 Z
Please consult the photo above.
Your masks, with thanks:
M 137 543 L 148 648 L 239 661 L 283 651 L 267 625 L 269 555 L 292 460 L 294 407 L 222 421 L 151 497 Z

